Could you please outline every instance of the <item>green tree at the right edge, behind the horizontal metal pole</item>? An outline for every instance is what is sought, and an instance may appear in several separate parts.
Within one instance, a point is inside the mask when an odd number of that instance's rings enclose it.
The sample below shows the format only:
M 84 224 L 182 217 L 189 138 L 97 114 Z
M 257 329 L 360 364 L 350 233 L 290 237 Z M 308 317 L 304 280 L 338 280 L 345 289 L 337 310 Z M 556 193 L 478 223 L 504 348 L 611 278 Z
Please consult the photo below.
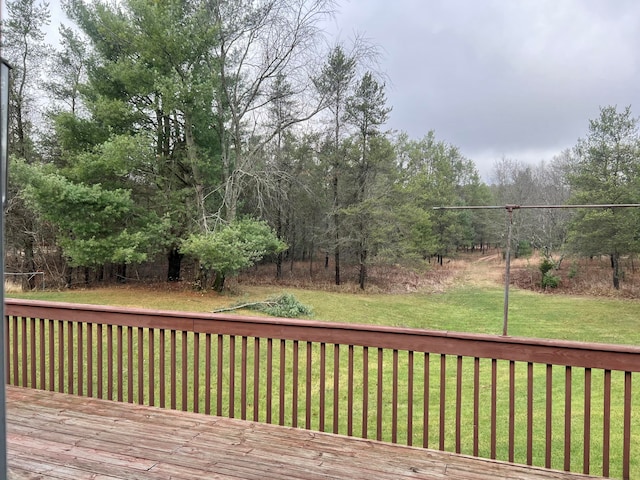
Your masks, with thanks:
M 640 137 L 638 119 L 626 107 L 600 109 L 589 121 L 587 136 L 574 148 L 568 180 L 571 203 L 640 202 Z M 640 251 L 640 214 L 636 209 L 579 209 L 571 224 L 569 245 L 587 256 L 608 255 L 613 287 L 620 288 L 620 258 Z

